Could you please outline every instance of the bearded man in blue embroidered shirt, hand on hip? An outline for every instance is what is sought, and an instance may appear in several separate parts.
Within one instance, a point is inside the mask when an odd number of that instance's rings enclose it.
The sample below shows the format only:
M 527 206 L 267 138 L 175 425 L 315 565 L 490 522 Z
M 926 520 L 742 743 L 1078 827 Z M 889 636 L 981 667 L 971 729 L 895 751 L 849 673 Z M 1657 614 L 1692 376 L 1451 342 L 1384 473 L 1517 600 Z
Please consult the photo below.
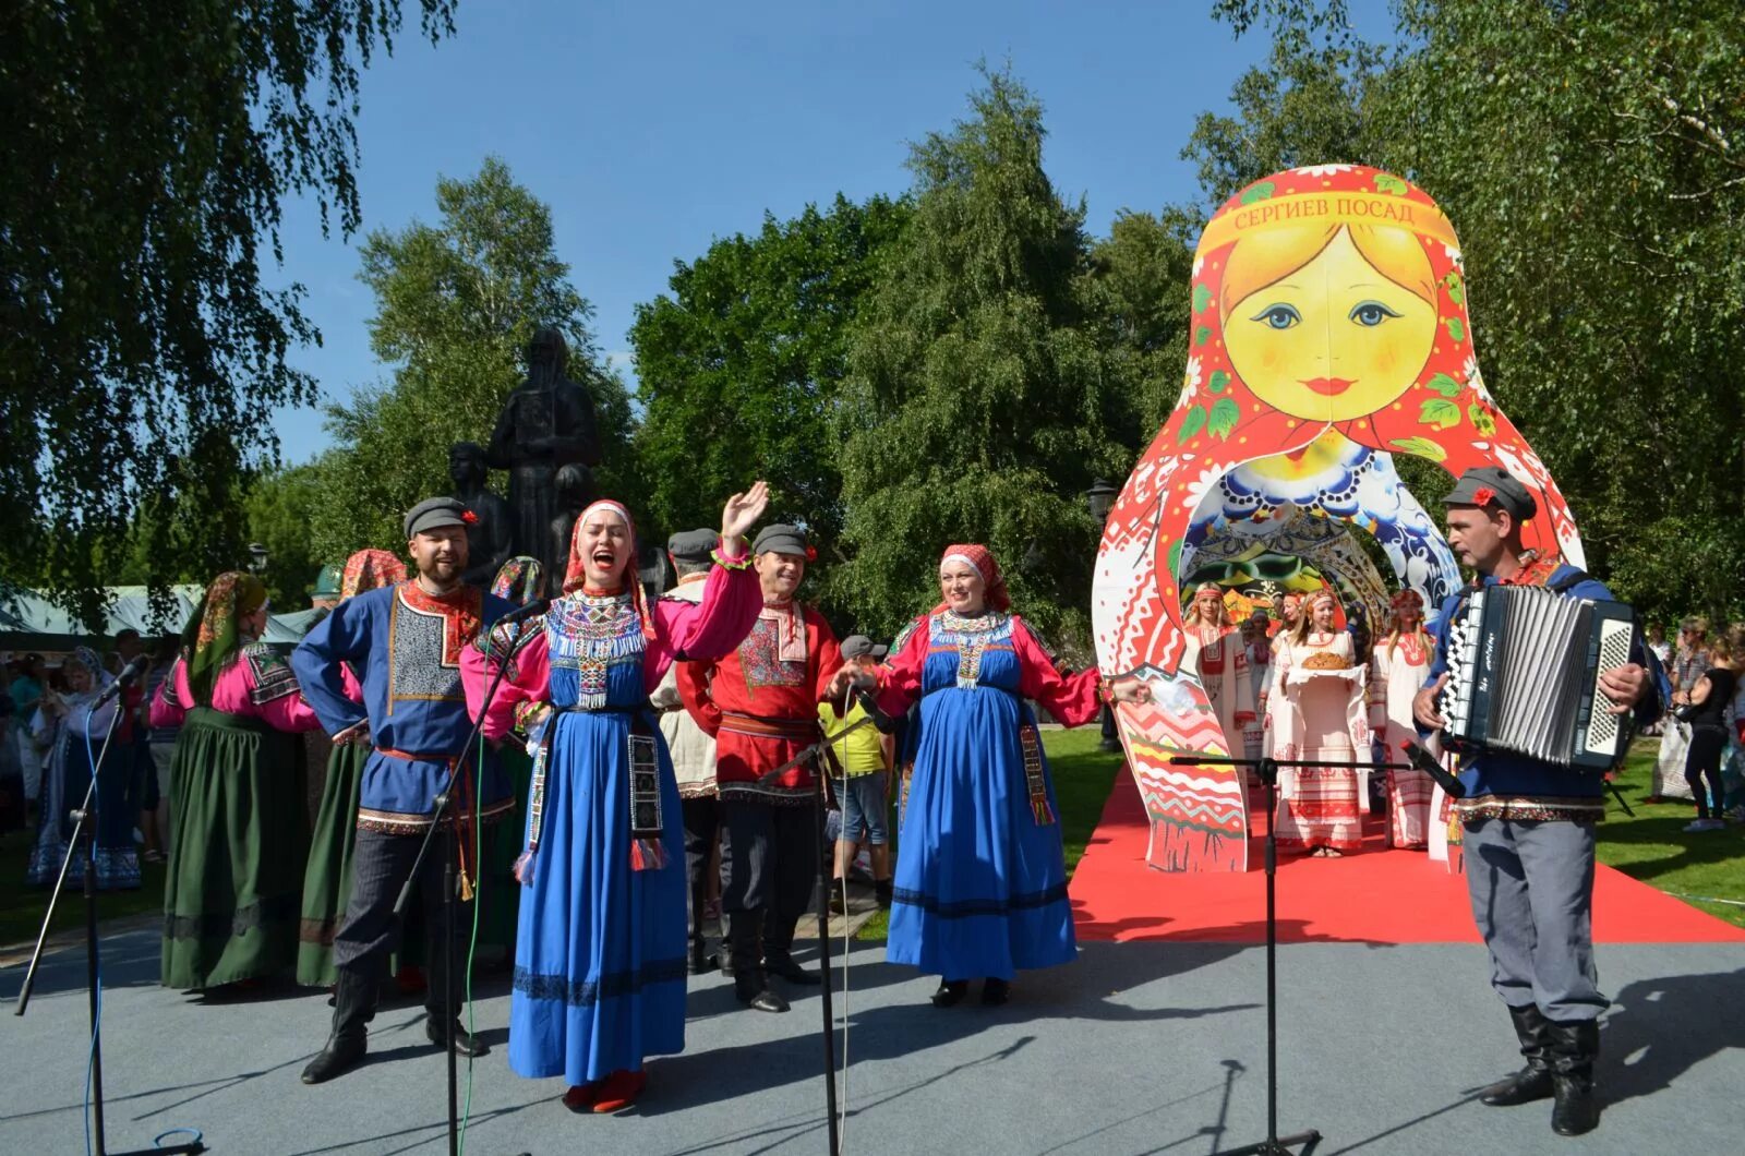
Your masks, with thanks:
M 359 740 L 375 747 L 358 795 L 351 901 L 333 936 L 339 969 L 333 1030 L 326 1048 L 304 1069 L 305 1084 L 333 1079 L 363 1058 L 365 1025 L 375 1009 L 387 957 L 400 943 L 394 899 L 412 873 L 450 770 L 461 765 L 443 817 L 443 828 L 459 843 L 464 901 L 455 903 L 457 943 L 473 920 L 471 880 L 478 868 L 471 856 L 473 824 L 499 819 L 513 805 L 496 758 L 487 754 L 483 767 L 475 768 L 476 754 L 461 749 L 471 732 L 461 690 L 461 650 L 480 627 L 513 609 L 511 602 L 461 580 L 471 517 L 455 498 L 429 498 L 412 506 L 403 527 L 417 576 L 346 599 L 291 653 L 304 698 L 333 742 Z M 347 697 L 344 667 L 361 685 L 361 702 Z M 443 850 L 438 842 L 419 875 L 429 969 L 426 1036 L 443 1046 L 445 1032 L 452 1030 L 455 1051 L 480 1055 L 483 1044 L 457 1022 L 461 976 L 452 985 L 455 999 L 448 999 L 445 983 Z

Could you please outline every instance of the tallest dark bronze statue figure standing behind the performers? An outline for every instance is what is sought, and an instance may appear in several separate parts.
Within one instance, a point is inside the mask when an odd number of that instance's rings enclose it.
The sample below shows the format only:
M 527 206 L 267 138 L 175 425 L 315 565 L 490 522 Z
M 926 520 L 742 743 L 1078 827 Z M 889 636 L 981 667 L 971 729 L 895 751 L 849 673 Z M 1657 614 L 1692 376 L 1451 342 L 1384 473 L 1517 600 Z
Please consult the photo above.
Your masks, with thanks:
M 534 334 L 527 344 L 527 381 L 503 405 L 485 454 L 492 466 L 510 471 L 513 552 L 544 562 L 553 587 L 562 585 L 569 561 L 569 541 L 558 550 L 551 541 L 551 524 L 558 517 L 557 471 L 564 466 L 581 471 L 581 506 L 586 506 L 593 499 L 588 466 L 600 464 L 593 398 L 564 375 L 567 360 L 562 334 L 555 328 Z

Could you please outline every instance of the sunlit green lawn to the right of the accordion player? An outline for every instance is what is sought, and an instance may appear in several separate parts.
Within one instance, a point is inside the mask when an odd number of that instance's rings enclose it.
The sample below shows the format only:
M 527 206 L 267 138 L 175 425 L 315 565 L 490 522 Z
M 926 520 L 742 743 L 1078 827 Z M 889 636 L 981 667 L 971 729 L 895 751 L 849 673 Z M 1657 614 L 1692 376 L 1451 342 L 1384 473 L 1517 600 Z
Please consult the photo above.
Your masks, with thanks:
M 1600 863 L 1745 927 L 1745 829 L 1686 835 L 1684 824 L 1696 817 L 1694 803 L 1644 802 L 1658 749 L 1658 740 L 1639 739 L 1630 751 L 1618 789 L 1637 814 L 1632 819 L 1611 800 L 1600 824 Z

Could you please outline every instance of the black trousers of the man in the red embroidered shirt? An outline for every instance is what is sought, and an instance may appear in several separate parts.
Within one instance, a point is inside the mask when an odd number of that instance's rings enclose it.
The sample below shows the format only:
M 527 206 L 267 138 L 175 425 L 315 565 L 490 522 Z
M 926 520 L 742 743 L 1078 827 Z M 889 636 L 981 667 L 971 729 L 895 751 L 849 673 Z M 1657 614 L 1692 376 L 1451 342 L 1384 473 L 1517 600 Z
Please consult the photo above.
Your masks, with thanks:
M 818 828 L 810 803 L 721 800 L 721 910 L 763 913 L 764 950 L 785 952 L 818 884 Z

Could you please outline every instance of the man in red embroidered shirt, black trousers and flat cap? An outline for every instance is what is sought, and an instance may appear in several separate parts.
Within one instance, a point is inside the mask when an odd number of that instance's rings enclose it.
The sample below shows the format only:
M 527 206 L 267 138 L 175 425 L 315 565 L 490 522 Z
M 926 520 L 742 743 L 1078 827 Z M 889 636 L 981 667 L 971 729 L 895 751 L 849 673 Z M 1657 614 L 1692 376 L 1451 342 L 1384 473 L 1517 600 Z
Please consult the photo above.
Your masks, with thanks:
M 766 526 L 752 545 L 764 608 L 740 648 L 719 662 L 686 662 L 679 693 L 715 735 L 721 793 L 721 910 L 733 990 L 757 1011 L 787 1011 L 768 974 L 818 983 L 792 957 L 794 929 L 818 871 L 815 781 L 794 767 L 763 777 L 818 737 L 818 704 L 843 665 L 824 615 L 796 599 L 811 547 L 796 526 Z

